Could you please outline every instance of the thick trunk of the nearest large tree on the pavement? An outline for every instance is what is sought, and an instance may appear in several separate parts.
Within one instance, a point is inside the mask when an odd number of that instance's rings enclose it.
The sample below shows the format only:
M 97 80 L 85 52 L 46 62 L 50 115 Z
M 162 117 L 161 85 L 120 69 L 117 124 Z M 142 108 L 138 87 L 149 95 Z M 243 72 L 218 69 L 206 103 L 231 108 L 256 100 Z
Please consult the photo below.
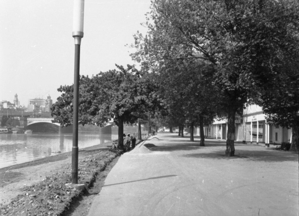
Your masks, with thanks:
M 225 156 L 235 156 L 235 114 L 236 111 L 228 112 L 228 124 L 227 124 L 227 138 L 226 138 L 226 150 Z

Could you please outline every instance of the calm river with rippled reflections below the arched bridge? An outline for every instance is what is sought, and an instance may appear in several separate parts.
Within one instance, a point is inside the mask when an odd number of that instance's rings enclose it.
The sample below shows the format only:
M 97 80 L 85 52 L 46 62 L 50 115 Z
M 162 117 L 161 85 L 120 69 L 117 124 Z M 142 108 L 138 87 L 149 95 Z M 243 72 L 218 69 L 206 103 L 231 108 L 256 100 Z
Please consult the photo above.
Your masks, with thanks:
M 79 131 L 78 147 L 80 150 L 97 144 L 105 146 L 114 139 L 118 139 L 117 133 Z M 72 133 L 0 134 L 0 168 L 70 152 L 72 145 Z

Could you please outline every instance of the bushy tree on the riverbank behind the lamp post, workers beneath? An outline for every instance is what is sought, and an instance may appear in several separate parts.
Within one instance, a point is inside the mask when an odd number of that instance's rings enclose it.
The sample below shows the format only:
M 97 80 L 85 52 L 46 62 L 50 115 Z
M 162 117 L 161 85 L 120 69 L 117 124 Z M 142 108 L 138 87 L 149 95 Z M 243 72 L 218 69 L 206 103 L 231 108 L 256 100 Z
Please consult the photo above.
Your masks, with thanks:
M 118 125 L 119 147 L 123 149 L 123 124 L 135 123 L 141 113 L 158 104 L 155 86 L 140 76 L 134 66 L 116 65 L 118 70 L 100 72 L 92 78 L 80 77 L 79 122 L 105 126 L 109 119 Z M 54 122 L 72 123 L 72 86 L 60 87 L 65 92 L 51 108 Z

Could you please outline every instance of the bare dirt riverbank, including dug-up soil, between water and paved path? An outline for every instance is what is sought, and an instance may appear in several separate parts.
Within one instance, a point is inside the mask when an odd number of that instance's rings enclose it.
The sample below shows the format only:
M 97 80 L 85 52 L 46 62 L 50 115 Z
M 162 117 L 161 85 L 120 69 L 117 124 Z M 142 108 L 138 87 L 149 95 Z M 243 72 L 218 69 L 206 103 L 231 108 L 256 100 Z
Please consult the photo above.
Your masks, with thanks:
M 84 192 L 65 185 L 71 183 L 71 153 L 0 169 L 0 215 L 86 215 L 121 153 L 100 146 L 79 151 Z

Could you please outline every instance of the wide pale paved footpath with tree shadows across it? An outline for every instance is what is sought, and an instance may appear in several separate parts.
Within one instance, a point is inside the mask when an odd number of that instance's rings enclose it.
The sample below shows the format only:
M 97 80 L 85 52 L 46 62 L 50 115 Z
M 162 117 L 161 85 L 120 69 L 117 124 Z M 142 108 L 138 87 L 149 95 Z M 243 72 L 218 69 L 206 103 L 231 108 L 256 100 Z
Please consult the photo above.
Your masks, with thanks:
M 298 152 L 158 133 L 124 153 L 89 216 L 298 215 Z

